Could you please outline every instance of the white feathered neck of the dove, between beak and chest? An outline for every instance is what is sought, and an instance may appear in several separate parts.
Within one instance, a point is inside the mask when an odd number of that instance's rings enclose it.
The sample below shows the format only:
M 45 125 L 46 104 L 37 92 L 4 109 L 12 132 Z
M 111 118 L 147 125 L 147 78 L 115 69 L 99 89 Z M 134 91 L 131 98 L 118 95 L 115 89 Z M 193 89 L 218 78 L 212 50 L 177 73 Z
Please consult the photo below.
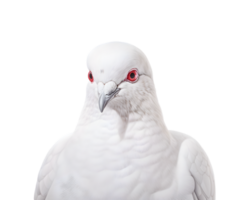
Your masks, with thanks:
M 128 109 L 125 109 L 128 111 L 125 112 L 124 109 L 114 109 L 112 106 L 107 106 L 101 113 L 97 105 L 95 101 L 90 101 L 82 109 L 75 127 L 79 134 L 82 134 L 82 128 L 86 126 L 91 127 L 91 130 L 101 130 L 97 134 L 100 134 L 101 137 L 114 135 L 124 139 L 146 135 L 170 137 L 156 98 L 151 98 L 141 104 L 136 112 L 129 112 Z

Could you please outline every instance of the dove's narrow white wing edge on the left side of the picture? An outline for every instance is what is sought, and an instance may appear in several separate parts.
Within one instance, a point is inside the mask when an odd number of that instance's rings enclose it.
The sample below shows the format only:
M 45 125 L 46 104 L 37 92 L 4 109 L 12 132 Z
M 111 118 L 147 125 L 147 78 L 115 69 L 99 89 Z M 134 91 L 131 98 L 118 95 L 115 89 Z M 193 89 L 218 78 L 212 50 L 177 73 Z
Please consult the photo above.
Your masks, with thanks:
M 49 149 L 37 174 L 33 200 L 45 200 L 53 183 L 57 159 L 71 136 L 71 132 L 61 136 Z

